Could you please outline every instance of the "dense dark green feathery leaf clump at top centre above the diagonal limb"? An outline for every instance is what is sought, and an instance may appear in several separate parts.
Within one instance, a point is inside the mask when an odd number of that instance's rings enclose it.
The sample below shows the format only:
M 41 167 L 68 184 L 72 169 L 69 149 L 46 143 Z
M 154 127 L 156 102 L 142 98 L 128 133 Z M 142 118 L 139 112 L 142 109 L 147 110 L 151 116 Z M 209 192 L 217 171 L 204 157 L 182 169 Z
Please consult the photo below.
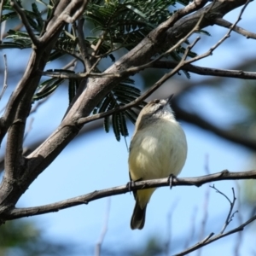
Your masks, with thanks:
M 113 52 L 119 47 L 130 50 L 172 15 L 169 9 L 176 2 L 189 3 L 175 0 L 130 0 L 108 1 L 108 4 L 102 5 L 102 1 L 91 1 L 84 18 L 93 23 L 92 32 L 102 32 L 104 43 L 100 49 L 101 54 Z M 90 39 L 93 44 L 97 44 L 100 37 Z M 162 49 L 162 52 L 165 50 Z M 177 59 L 177 52 L 171 53 L 172 58 Z

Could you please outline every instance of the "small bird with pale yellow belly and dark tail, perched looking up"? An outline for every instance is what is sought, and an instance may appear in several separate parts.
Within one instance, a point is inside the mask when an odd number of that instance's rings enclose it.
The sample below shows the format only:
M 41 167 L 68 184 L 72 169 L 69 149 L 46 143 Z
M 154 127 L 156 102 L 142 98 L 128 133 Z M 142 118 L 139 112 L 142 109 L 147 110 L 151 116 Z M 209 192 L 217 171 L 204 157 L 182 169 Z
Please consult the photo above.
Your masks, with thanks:
M 187 140 L 174 117 L 172 96 L 148 102 L 138 115 L 128 160 L 131 181 L 177 176 L 183 168 Z M 143 229 L 147 204 L 154 190 L 134 192 L 136 205 L 131 230 Z

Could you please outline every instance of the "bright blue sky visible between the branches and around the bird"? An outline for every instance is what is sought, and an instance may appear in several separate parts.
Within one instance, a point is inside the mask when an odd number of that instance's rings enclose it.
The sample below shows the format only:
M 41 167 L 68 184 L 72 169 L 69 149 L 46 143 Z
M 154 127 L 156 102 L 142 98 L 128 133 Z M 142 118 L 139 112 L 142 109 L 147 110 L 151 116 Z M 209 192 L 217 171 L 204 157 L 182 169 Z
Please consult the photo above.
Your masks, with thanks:
M 255 31 L 256 3 L 250 3 L 239 26 L 252 32 Z M 225 17 L 226 20 L 234 22 L 240 9 Z M 218 39 L 224 36 L 226 29 L 218 26 L 209 27 L 207 31 L 211 37 L 202 36 L 201 41 L 196 44 L 195 52 L 200 54 Z M 193 41 L 193 40 L 191 40 Z M 205 67 L 230 68 L 242 60 L 255 55 L 255 41 L 237 36 L 232 32 L 228 38 L 212 56 L 195 64 Z M 13 90 L 22 73 L 16 73 L 15 69 L 20 66 L 26 67 L 29 50 L 12 49 L 7 52 L 9 63 L 10 86 L 1 102 L 1 109 Z M 15 59 L 15 61 L 13 61 Z M 2 61 L 1 61 L 2 62 Z M 0 64 L 3 71 L 3 62 Z M 2 72 L 1 72 L 2 73 Z M 3 74 L 1 74 L 3 77 Z M 169 90 L 166 96 L 172 93 L 172 83 L 184 80 L 184 76 L 175 76 L 166 83 Z M 205 79 L 191 73 L 193 81 Z M 233 81 L 234 79 L 230 79 Z M 186 81 L 186 80 L 185 80 Z M 230 86 L 236 86 L 236 82 Z M 136 76 L 136 85 L 143 88 L 143 79 Z M 207 84 L 206 84 L 207 85 Z M 213 123 L 229 125 L 236 119 L 234 112 L 230 115 L 230 109 L 236 111 L 236 107 L 229 105 L 225 96 L 216 99 L 214 88 L 201 86 L 194 90 L 183 100 L 193 102 L 193 110 L 207 114 L 207 119 Z M 38 108 L 32 117 L 32 130 L 26 138 L 26 145 L 32 143 L 38 137 L 45 137 L 54 131 L 61 122 L 62 116 L 67 108 L 67 90 L 65 86 L 58 89 L 49 101 Z M 234 118 L 235 116 L 235 118 Z M 247 148 L 227 142 L 211 132 L 201 130 L 195 125 L 181 122 L 188 141 L 188 158 L 179 177 L 196 177 L 210 173 L 221 172 L 228 169 L 230 172 L 242 172 L 253 170 L 254 153 Z M 134 126 L 129 124 L 130 136 L 126 138 L 130 143 Z M 4 143 L 3 143 L 4 144 Z M 4 147 L 1 148 L 3 154 Z M 116 142 L 113 131 L 108 134 L 103 129 L 88 132 L 83 137 L 74 140 L 65 148 L 59 157 L 43 172 L 20 198 L 18 207 L 36 207 L 68 198 L 84 195 L 94 190 L 108 189 L 114 186 L 124 185 L 129 181 L 128 152 L 125 140 L 122 138 Z M 207 167 L 206 167 L 207 166 Z M 232 188 L 236 190 L 235 210 L 239 208 L 239 198 L 242 197 L 241 182 L 218 182 L 214 183 L 216 188 L 232 199 Z M 208 199 L 206 195 L 208 193 Z M 131 230 L 130 220 L 135 201 L 131 193 L 103 198 L 90 202 L 88 205 L 72 207 L 60 212 L 44 214 L 32 217 L 29 220 L 35 222 L 44 229 L 44 236 L 57 241 L 71 241 L 77 247 L 83 249 L 82 253 L 76 255 L 92 255 L 96 242 L 102 233 L 102 228 L 108 224 L 108 232 L 104 238 L 102 249 L 121 253 L 124 249 L 140 249 L 150 237 L 158 238 L 164 244 L 168 240 L 171 230 L 172 249 L 170 255 L 178 253 L 186 245 L 193 245 L 206 237 L 211 232 L 218 234 L 224 225 L 225 218 L 229 212 L 230 204 L 224 196 L 216 193 L 214 189 L 205 184 L 200 188 L 179 186 L 171 189 L 165 187 L 157 189 L 148 204 L 146 224 L 143 230 Z M 207 210 L 206 210 L 207 208 Z M 201 237 L 201 222 L 207 214 L 207 223 L 203 236 Z M 247 208 L 239 208 L 239 213 L 234 217 L 227 230 L 235 228 L 242 218 L 247 220 Z M 108 217 L 108 221 L 106 218 Z M 192 230 L 195 230 L 193 236 Z M 201 255 L 234 255 L 234 247 L 240 243 L 241 255 L 255 253 L 255 224 L 248 226 L 243 232 L 242 238 L 237 234 L 228 236 L 220 241 L 202 249 Z M 197 252 L 189 255 L 198 255 Z

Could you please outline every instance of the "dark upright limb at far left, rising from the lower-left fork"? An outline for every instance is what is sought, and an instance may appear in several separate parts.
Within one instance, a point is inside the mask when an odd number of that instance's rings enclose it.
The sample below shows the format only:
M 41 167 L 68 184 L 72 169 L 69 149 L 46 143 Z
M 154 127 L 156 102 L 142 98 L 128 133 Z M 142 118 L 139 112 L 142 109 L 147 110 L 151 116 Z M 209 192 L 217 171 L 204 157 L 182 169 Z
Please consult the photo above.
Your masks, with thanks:
M 66 3 L 67 6 L 70 4 L 69 1 L 65 0 L 60 1 L 58 6 L 63 5 L 63 3 Z M 78 9 L 79 8 L 81 8 L 81 6 L 79 6 Z M 58 8 L 56 11 L 58 11 Z M 22 19 L 22 16 L 20 17 Z M 55 41 L 59 37 L 59 33 L 61 32 L 64 24 L 65 23 L 62 20 L 61 26 L 58 27 L 58 30 L 55 31 L 54 34 L 49 35 L 49 32 L 45 32 L 44 40 L 42 38 L 38 38 L 39 44 L 37 45 L 37 48 L 32 49 L 32 55 L 27 64 L 24 76 L 16 86 L 13 94 L 10 96 L 8 105 L 3 113 L 3 117 L 0 119 L 0 142 L 2 142 L 3 137 L 9 130 L 4 161 L 5 172 L 3 181 L 0 184 L 0 190 L 2 192 L 0 194 L 0 202 L 2 203 L 2 206 L 15 205 L 19 200 L 20 195 L 24 193 L 24 189 L 27 189 L 27 184 L 23 186 L 21 178 L 25 173 L 25 170 L 29 169 L 26 165 L 26 159 L 22 156 L 22 144 L 26 119 L 31 109 L 32 96 L 41 79 L 41 74 L 38 73 L 38 70 L 44 70 L 49 54 L 55 45 Z M 45 40 L 47 35 L 49 36 L 48 40 Z M 77 133 L 78 131 L 76 130 L 75 134 Z M 24 179 L 26 180 L 26 177 L 24 177 Z M 10 198 L 7 196 L 9 193 L 12 194 Z M 0 212 L 4 208 L 5 207 L 0 209 Z

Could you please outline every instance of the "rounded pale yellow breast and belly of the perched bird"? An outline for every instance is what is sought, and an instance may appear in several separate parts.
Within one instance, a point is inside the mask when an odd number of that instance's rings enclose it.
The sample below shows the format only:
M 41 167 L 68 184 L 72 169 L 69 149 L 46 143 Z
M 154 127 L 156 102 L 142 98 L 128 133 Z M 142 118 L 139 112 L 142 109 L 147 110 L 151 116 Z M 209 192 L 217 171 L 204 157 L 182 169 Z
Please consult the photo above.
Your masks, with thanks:
M 175 120 L 161 119 L 132 137 L 129 154 L 131 179 L 177 176 L 186 156 L 186 137 L 180 125 Z

